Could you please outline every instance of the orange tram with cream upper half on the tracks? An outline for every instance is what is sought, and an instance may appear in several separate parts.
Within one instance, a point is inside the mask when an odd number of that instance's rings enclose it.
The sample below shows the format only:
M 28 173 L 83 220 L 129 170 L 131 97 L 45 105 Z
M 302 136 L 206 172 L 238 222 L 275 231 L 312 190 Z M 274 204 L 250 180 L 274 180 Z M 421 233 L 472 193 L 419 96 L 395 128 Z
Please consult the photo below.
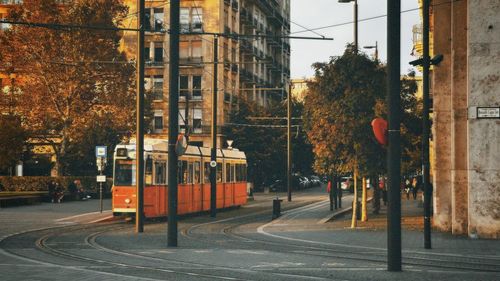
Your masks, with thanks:
M 145 140 L 144 214 L 167 215 L 168 142 Z M 135 144 L 119 144 L 113 160 L 113 215 L 136 212 Z M 178 214 L 210 210 L 210 148 L 188 146 L 178 164 Z M 217 149 L 217 209 L 247 202 L 247 162 L 236 149 Z

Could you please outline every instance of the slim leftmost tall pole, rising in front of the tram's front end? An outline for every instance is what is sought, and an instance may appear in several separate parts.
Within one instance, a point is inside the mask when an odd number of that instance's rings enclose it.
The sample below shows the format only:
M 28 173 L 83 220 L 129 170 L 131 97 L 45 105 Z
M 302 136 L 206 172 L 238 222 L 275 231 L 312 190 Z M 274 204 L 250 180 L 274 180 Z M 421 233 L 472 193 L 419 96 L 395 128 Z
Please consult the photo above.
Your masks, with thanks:
M 144 0 L 137 0 L 137 119 L 136 119 L 136 209 L 135 232 L 144 231 Z

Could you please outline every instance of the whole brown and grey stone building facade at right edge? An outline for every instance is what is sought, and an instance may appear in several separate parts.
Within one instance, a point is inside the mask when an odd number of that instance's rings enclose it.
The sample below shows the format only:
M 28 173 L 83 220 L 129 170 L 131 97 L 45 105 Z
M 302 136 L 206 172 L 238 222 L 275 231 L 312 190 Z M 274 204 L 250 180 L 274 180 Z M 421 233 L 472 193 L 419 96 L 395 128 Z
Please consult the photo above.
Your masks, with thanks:
M 500 3 L 431 1 L 435 227 L 500 238 Z

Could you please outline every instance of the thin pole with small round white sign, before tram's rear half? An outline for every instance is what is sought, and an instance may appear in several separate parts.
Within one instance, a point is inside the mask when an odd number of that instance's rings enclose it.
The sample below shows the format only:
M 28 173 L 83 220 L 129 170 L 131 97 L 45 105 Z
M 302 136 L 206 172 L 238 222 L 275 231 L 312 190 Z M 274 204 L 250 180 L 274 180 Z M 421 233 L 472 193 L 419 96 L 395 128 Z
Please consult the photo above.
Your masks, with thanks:
M 212 147 L 210 149 L 210 216 L 217 213 L 217 70 L 219 67 L 219 37 L 214 36 L 214 84 L 212 93 Z

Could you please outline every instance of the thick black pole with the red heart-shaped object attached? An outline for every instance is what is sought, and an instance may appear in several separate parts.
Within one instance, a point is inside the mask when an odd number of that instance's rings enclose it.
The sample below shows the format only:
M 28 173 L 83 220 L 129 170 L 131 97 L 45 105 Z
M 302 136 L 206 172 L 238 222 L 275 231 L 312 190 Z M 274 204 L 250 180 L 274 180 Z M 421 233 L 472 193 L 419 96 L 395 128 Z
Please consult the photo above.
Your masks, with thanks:
M 387 0 L 387 104 L 389 105 L 387 269 L 389 271 L 401 271 L 400 34 L 401 0 Z

